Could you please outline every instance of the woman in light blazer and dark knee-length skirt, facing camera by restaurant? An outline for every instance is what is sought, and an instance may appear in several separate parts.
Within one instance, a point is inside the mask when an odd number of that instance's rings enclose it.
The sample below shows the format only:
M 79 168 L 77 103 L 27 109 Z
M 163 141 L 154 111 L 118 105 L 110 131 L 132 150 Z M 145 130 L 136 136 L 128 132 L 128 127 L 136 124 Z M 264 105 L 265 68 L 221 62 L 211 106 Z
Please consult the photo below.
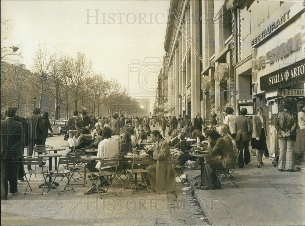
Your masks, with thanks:
M 257 159 L 257 168 L 260 168 L 260 166 L 264 166 L 263 163 L 263 155 L 264 151 L 267 150 L 267 142 L 266 142 L 266 136 L 267 136 L 267 128 L 266 128 L 266 119 L 262 115 L 263 108 L 261 106 L 258 106 L 256 108 L 257 115 L 253 116 L 253 133 L 252 133 L 252 148 L 256 148 L 256 159 Z

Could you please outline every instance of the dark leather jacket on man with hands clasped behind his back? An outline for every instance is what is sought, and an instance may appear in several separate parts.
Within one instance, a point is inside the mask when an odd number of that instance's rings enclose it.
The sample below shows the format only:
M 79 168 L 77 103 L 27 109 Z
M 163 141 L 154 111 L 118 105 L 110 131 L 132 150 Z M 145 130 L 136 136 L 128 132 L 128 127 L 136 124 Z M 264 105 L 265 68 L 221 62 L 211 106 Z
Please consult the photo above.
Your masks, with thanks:
M 282 111 L 274 118 L 274 126 L 278 131 L 278 138 L 282 138 L 282 132 L 289 133 L 288 140 L 296 141 L 296 128 L 298 125 L 298 118 L 296 114 L 289 111 Z

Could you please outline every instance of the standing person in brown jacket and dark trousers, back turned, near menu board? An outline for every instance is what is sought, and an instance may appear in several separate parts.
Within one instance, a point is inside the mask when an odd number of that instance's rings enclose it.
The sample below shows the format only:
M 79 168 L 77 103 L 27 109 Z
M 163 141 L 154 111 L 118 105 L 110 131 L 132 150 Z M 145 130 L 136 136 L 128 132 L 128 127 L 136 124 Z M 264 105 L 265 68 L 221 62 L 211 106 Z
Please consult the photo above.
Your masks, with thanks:
M 237 148 L 240 151 L 238 157 L 238 166 L 244 167 L 244 163 L 247 165 L 250 160 L 249 141 L 251 140 L 252 127 L 250 118 L 246 117 L 248 113 L 246 108 L 240 109 L 240 116 L 235 119 L 235 129 Z M 243 151 L 244 149 L 244 151 Z M 245 162 L 244 162 L 245 160 Z

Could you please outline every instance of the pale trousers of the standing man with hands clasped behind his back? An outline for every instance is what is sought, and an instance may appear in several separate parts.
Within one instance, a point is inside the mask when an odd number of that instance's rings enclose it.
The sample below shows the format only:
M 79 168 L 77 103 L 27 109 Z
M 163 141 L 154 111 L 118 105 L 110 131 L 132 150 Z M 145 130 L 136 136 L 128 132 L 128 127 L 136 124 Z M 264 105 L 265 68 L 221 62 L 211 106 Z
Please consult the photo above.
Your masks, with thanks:
M 294 169 L 294 141 L 287 138 L 279 138 L 278 169 Z

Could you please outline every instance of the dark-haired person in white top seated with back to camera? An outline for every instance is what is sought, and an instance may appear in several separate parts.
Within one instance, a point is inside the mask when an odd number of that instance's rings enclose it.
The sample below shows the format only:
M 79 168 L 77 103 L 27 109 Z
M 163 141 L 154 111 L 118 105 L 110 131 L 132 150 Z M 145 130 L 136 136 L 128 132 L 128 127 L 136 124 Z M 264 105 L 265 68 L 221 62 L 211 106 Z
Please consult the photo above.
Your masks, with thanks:
M 97 156 L 109 158 L 109 157 L 115 157 L 115 155 L 119 153 L 119 143 L 117 142 L 116 139 L 111 137 L 112 132 L 113 131 L 109 127 L 104 127 L 103 129 L 104 140 L 102 140 L 99 143 Z M 101 166 L 101 162 L 98 161 L 95 168 L 99 170 L 100 166 Z M 101 177 L 100 180 L 101 182 L 102 181 L 103 182 L 99 186 L 108 185 L 108 182 L 106 182 L 106 180 L 104 180 L 103 177 Z

